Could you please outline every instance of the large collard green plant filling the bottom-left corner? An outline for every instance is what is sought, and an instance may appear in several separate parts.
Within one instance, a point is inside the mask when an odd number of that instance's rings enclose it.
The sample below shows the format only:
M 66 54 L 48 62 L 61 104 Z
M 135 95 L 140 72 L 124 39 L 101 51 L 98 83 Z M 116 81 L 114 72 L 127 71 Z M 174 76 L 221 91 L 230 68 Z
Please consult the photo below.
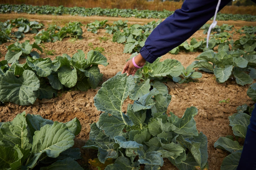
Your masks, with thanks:
M 0 123 L 1 169 L 83 169 L 75 160 L 80 150 L 71 148 L 81 131 L 77 118 L 53 122 L 25 112 Z M 44 162 L 45 161 L 45 162 Z M 50 164 L 50 165 L 49 165 Z

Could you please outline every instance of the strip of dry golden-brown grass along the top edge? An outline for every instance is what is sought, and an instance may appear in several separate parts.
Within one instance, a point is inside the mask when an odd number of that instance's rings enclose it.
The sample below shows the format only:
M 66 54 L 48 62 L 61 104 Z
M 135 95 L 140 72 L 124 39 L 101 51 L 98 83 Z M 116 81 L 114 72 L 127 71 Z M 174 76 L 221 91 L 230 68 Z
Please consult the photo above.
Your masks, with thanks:
M 51 5 L 65 7 L 85 7 L 85 8 L 118 8 L 118 9 L 138 9 L 138 10 L 157 10 L 157 11 L 175 11 L 182 5 L 182 1 L 165 1 L 154 0 L 148 2 L 146 0 L 1 0 L 1 4 L 31 4 L 31 5 Z M 252 6 L 225 6 L 220 12 L 230 14 L 251 14 L 256 15 L 256 5 Z

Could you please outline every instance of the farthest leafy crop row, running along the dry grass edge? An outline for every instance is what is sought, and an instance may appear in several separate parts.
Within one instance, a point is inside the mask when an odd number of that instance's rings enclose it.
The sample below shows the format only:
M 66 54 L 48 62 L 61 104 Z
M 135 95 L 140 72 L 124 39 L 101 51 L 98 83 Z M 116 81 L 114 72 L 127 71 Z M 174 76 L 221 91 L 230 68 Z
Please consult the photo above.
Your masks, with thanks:
M 149 11 L 149 10 L 131 10 L 131 9 L 102 9 L 96 8 L 84 8 L 84 7 L 53 7 L 49 5 L 44 6 L 32 6 L 32 5 L 10 5 L 1 4 L 0 13 L 18 12 L 18 13 L 29 13 L 29 14 L 47 14 L 47 15 L 80 15 L 80 16 L 108 16 L 108 17 L 136 17 L 136 18 L 167 18 L 174 11 Z M 218 14 L 217 20 L 245 20 L 255 21 L 256 16 L 252 15 L 241 15 L 241 14 Z

